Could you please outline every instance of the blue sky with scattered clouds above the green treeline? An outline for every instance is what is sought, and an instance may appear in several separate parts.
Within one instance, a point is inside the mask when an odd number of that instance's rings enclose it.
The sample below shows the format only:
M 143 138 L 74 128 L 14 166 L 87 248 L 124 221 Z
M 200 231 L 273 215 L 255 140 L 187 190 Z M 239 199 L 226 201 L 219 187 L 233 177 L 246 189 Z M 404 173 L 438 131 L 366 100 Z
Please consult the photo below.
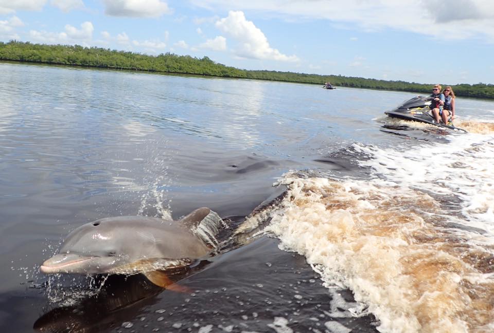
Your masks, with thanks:
M 0 0 L 0 41 L 241 69 L 494 84 L 492 0 Z

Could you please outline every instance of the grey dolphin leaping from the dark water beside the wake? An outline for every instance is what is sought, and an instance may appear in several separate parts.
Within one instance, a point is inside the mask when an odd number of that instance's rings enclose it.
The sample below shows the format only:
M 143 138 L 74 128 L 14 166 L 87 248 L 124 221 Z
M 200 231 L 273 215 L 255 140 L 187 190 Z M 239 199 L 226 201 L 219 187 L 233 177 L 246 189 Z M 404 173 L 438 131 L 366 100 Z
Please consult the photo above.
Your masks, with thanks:
M 215 236 L 221 226 L 226 227 L 218 214 L 206 207 L 178 221 L 142 216 L 104 218 L 70 232 L 59 253 L 43 262 L 40 271 L 143 273 L 154 284 L 168 287 L 173 282 L 166 272 L 177 273 L 210 255 L 218 246 Z

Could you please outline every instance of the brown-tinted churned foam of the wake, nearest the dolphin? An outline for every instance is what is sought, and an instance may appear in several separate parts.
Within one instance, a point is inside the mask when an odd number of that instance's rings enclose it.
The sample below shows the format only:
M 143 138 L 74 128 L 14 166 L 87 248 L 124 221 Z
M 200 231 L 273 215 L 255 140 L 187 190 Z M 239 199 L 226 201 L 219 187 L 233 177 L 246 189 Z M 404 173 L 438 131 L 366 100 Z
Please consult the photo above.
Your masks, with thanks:
M 490 332 L 492 240 L 446 223 L 428 194 L 286 175 L 269 230 L 328 284 L 350 288 L 385 332 Z

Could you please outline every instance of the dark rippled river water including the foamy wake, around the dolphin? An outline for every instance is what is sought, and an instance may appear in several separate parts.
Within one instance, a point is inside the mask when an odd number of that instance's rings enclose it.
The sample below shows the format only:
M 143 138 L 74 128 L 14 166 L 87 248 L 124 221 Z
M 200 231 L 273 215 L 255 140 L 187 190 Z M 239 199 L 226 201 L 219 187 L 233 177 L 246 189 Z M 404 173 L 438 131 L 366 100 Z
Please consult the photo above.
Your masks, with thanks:
M 407 92 L 0 74 L 0 330 L 494 330 L 494 102 L 457 98 L 463 134 L 387 119 Z M 264 229 L 188 292 L 39 272 L 79 225 L 202 206 Z

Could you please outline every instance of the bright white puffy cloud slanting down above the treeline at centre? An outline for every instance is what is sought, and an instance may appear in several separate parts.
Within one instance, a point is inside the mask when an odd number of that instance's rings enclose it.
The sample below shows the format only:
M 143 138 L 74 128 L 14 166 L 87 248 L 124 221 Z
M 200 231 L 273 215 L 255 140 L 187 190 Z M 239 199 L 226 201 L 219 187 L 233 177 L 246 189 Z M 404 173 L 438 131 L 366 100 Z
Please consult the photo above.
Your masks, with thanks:
M 216 27 L 238 42 L 236 55 L 245 58 L 277 61 L 298 61 L 295 55 L 285 55 L 270 47 L 268 38 L 241 11 L 230 11 L 216 22 Z

